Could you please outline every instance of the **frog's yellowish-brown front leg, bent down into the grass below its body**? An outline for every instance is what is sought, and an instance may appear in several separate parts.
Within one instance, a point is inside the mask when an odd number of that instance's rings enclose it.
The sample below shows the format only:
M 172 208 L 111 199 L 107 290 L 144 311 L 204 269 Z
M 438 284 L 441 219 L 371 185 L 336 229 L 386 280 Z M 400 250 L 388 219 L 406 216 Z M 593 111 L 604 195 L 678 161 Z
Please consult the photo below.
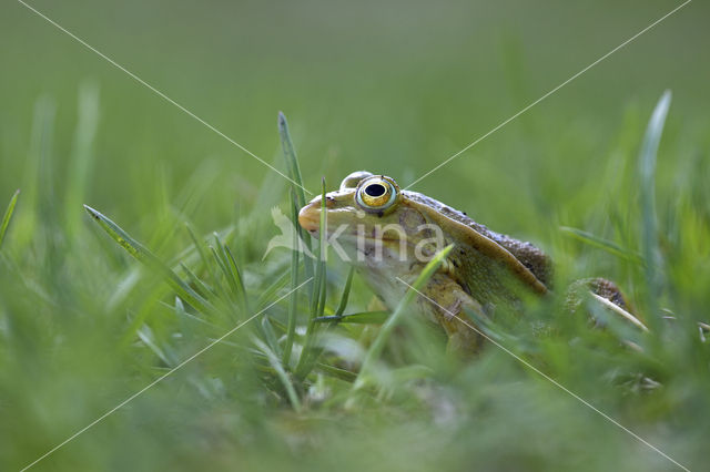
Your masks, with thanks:
M 417 302 L 424 311 L 434 315 L 434 319 L 448 336 L 449 351 L 474 353 L 480 347 L 483 337 L 471 328 L 470 318 L 465 309 L 481 316 L 484 309 L 463 287 L 446 274 L 435 274 L 422 290 Z

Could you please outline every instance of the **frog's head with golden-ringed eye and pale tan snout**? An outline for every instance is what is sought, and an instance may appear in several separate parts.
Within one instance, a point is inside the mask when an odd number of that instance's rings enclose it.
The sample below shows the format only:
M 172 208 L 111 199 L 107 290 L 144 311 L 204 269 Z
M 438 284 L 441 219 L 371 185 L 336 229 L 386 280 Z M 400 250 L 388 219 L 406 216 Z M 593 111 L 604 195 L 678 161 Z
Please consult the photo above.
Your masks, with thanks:
M 420 203 L 384 175 L 354 172 L 325 195 L 328 244 L 356 265 L 395 270 L 426 263 L 443 246 L 438 225 Z M 321 196 L 298 214 L 298 223 L 320 237 Z M 341 250 L 342 249 L 342 250 Z

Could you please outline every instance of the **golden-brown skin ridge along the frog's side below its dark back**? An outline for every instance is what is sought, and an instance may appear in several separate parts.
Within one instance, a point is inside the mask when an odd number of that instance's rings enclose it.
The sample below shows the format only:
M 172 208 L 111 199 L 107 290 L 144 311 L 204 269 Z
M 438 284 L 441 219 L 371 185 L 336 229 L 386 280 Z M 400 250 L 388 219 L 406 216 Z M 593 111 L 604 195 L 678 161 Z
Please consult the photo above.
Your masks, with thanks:
M 466 242 L 473 248 L 484 254 L 486 257 L 498 260 L 508 266 L 508 268 L 513 270 L 513 273 L 518 276 L 520 280 L 530 286 L 532 290 L 537 291 L 538 294 L 547 294 L 548 290 L 545 284 L 542 284 L 537 277 L 535 277 L 535 274 L 532 274 L 530 269 L 525 267 L 525 265 L 519 261 L 508 249 L 506 249 L 495 240 L 481 235 L 470 226 L 448 218 L 427 206 L 419 207 L 419 212 L 425 213 L 426 216 L 432 220 L 436 220 L 437 218 L 442 217 L 447 218 L 447 224 L 449 226 L 448 233 L 453 236 L 454 240 Z

